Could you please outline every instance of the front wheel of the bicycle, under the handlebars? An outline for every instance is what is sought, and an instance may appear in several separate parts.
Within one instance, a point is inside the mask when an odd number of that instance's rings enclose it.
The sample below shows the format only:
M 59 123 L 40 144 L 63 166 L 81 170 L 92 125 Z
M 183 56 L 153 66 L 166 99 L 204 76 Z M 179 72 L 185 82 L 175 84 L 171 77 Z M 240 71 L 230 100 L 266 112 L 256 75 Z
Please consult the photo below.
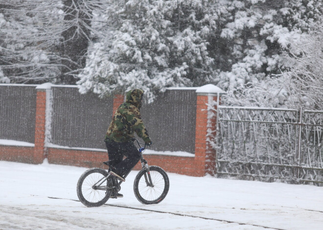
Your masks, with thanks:
M 147 169 L 143 168 L 135 178 L 134 193 L 137 200 L 144 205 L 159 204 L 168 193 L 169 178 L 161 167 L 150 166 L 149 171 L 154 187 L 146 185 L 144 174 Z

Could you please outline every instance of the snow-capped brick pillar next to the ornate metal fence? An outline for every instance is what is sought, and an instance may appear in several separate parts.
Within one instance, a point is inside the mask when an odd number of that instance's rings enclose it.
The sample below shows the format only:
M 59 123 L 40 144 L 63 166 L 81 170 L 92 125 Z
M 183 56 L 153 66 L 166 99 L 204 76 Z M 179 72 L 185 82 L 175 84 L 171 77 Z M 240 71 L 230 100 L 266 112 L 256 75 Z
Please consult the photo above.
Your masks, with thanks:
M 216 106 L 224 91 L 213 84 L 196 90 L 195 164 L 197 176 L 216 173 L 216 152 L 212 147 L 216 135 Z

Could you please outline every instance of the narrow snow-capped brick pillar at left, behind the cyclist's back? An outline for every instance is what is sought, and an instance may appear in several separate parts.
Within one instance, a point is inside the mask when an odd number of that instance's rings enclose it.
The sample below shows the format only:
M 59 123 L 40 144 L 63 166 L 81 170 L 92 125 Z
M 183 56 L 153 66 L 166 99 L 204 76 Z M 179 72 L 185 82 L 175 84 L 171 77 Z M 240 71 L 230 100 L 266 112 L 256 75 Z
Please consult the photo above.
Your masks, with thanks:
M 45 83 L 36 87 L 36 124 L 35 124 L 35 147 L 33 162 L 41 164 L 45 158 L 45 129 L 46 129 L 46 90 L 52 84 Z

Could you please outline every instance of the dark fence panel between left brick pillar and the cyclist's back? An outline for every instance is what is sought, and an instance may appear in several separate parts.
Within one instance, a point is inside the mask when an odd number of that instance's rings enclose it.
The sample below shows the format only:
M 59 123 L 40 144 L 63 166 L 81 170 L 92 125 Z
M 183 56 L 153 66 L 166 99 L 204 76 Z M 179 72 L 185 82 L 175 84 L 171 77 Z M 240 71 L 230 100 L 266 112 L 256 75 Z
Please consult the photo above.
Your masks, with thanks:
M 51 143 L 69 147 L 106 148 L 113 98 L 80 94 L 76 87 L 52 87 Z

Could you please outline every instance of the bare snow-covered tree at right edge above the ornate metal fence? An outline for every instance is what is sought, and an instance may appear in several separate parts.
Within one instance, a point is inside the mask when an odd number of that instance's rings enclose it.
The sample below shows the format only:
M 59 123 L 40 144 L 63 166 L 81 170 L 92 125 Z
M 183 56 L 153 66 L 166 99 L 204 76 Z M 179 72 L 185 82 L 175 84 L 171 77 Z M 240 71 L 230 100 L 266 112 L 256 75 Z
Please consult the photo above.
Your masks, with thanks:
M 290 100 L 294 105 L 323 110 L 323 23 L 302 40 L 292 44 L 285 55 L 293 68 L 290 78 Z

